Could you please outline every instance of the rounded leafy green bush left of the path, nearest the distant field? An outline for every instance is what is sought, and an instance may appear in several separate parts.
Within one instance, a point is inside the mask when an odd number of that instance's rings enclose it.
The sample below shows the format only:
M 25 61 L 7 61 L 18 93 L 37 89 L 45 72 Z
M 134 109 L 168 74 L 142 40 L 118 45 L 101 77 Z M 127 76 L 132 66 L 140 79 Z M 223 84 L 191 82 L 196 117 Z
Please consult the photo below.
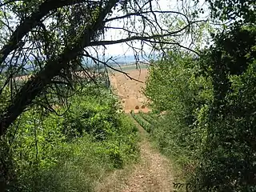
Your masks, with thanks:
M 87 132 L 99 140 L 104 140 L 114 134 L 114 131 L 120 126 L 120 121 L 116 115 L 118 110 L 116 99 L 111 97 L 106 90 L 101 90 L 98 93 L 93 92 L 94 97 L 86 95 L 91 89 L 92 87 L 88 87 L 75 95 L 72 98 L 70 112 L 64 115 L 62 132 L 69 138 Z M 81 100 L 86 102 L 80 102 Z

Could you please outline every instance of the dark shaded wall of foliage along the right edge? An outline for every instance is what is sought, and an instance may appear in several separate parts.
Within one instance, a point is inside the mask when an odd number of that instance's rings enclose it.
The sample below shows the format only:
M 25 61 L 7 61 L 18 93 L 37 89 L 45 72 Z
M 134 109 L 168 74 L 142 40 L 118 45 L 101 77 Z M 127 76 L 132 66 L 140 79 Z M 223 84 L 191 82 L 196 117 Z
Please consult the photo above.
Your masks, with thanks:
M 234 28 L 218 37 L 206 60 L 213 69 L 214 102 L 198 168 L 201 191 L 245 191 L 255 186 L 255 44 L 254 27 Z

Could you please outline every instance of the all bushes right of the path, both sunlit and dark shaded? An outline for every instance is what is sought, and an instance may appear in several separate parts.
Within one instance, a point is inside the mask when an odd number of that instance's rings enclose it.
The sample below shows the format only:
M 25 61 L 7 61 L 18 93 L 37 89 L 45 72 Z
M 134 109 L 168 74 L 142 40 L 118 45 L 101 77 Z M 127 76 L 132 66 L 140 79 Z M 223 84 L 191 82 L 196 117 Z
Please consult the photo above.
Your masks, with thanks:
M 200 57 L 170 51 L 146 82 L 151 106 L 165 112 L 150 132 L 196 191 L 256 190 L 256 28 L 240 22 Z

